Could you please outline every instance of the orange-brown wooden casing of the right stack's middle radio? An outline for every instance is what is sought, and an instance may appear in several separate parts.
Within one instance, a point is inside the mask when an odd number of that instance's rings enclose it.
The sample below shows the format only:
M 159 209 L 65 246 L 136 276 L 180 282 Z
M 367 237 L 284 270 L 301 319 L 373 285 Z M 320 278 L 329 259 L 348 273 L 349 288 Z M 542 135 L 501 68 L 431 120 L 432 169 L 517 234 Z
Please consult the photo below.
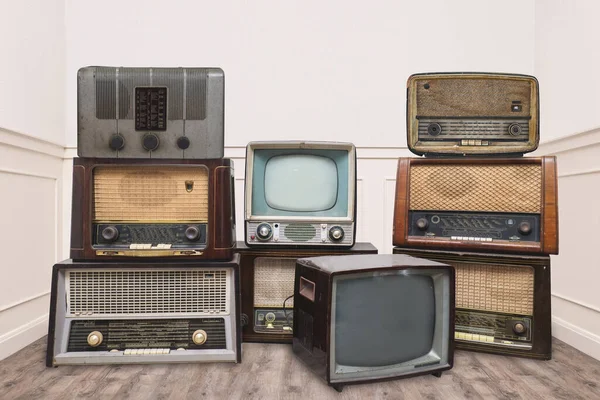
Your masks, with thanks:
M 450 239 L 424 239 L 408 236 L 410 207 L 411 165 L 523 165 L 542 166 L 542 204 L 540 213 L 540 242 L 462 242 Z M 519 185 L 519 182 L 514 182 Z M 396 175 L 396 201 L 394 207 L 394 246 L 422 247 L 439 250 L 471 250 L 529 254 L 558 254 L 558 182 L 556 157 L 523 158 L 400 158 Z

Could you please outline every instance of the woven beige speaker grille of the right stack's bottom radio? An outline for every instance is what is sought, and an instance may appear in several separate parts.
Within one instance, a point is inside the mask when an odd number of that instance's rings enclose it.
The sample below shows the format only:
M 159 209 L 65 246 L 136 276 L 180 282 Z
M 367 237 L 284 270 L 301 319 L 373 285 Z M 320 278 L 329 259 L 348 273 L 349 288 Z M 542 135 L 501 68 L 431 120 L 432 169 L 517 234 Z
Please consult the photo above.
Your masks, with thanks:
M 456 269 L 456 308 L 533 315 L 533 268 L 452 265 Z

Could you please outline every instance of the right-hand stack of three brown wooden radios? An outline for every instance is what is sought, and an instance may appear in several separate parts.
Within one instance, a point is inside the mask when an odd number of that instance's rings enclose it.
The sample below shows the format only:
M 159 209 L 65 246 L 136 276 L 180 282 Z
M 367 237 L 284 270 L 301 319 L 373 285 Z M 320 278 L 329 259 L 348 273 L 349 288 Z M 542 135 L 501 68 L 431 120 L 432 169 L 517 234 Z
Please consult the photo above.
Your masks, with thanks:
M 456 347 L 550 359 L 555 157 L 539 142 L 534 77 L 417 74 L 398 162 L 394 253 L 456 269 Z

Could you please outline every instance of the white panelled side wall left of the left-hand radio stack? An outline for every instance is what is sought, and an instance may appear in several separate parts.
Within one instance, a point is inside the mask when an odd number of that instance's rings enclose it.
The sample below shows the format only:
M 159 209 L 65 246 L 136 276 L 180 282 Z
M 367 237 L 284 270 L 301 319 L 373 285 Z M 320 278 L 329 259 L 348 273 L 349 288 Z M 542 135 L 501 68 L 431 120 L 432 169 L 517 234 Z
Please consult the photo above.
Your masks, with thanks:
M 0 3 L 0 359 L 47 332 L 62 241 L 62 0 Z

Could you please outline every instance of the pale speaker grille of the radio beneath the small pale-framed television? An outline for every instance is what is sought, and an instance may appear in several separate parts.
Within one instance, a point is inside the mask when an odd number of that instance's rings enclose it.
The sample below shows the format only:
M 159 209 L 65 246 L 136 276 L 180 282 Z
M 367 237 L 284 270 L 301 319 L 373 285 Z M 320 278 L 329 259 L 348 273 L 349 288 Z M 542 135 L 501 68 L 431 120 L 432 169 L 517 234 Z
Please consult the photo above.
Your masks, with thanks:
M 295 258 L 258 257 L 254 260 L 254 307 L 283 306 L 283 301 L 294 294 Z M 286 301 L 292 307 L 294 298 Z

